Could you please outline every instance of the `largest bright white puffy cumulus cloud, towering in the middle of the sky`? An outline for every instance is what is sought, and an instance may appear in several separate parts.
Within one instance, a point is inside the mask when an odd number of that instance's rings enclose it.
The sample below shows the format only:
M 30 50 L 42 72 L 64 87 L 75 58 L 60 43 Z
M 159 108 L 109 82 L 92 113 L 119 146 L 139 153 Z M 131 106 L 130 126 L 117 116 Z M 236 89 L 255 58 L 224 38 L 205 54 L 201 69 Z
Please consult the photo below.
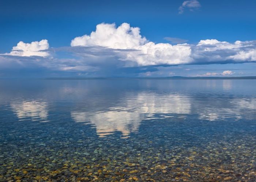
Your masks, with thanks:
M 98 24 L 95 32 L 90 35 L 75 37 L 71 46 L 103 46 L 113 49 L 132 49 L 126 52 L 121 60 L 138 63 L 139 66 L 156 64 L 183 64 L 188 63 L 191 48 L 187 44 L 171 45 L 166 43 L 155 44 L 140 35 L 140 28 L 130 27 L 123 23 L 119 27 L 115 24 Z

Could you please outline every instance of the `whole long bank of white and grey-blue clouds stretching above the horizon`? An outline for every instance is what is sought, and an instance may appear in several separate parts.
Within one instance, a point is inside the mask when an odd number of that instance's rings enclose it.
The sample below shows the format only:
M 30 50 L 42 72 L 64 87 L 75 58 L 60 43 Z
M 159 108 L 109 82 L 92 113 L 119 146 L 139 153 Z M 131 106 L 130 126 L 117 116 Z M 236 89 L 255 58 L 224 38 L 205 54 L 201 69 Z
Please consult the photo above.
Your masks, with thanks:
M 67 58 L 63 58 L 63 53 Z M 149 41 L 140 34 L 140 28 L 128 23 L 120 26 L 101 23 L 90 35 L 75 37 L 71 47 L 49 49 L 48 40 L 20 41 L 10 53 L 0 55 L 0 70 L 29 68 L 81 74 L 97 72 L 101 76 L 131 72 L 149 75 L 166 65 L 248 62 L 256 62 L 255 40 L 230 43 L 206 39 L 196 44 L 172 45 Z M 231 74 L 210 72 L 200 76 Z

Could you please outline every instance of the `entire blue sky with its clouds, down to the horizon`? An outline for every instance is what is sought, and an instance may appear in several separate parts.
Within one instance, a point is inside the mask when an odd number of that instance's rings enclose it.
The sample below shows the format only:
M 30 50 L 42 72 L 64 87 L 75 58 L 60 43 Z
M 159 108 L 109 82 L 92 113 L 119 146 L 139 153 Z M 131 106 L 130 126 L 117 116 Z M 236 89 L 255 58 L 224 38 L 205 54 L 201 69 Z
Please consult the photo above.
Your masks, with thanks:
M 0 1 L 0 78 L 256 76 L 254 0 Z

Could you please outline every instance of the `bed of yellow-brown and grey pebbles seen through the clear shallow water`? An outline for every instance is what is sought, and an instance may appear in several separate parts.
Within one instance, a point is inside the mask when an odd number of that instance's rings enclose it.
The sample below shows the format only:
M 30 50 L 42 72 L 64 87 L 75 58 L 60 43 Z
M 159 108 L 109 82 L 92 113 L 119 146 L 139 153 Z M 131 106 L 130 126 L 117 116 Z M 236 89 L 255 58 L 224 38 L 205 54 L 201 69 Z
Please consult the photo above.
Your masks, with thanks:
M 147 120 L 147 124 L 154 122 Z M 174 126 L 170 124 L 170 128 Z M 153 128 L 148 127 L 144 132 L 120 139 L 118 135 L 113 135 L 113 138 L 98 138 L 97 135 L 77 137 L 75 131 L 80 128 L 75 126 L 68 135 L 57 128 L 46 129 L 58 135 L 41 132 L 30 137 L 23 130 L 19 136 L 29 137 L 23 141 L 24 145 L 16 140 L 0 144 L 1 179 L 256 181 L 256 139 L 250 134 L 235 136 L 226 131 L 225 137 L 221 137 L 221 133 L 208 135 L 197 132 L 194 139 L 188 139 L 185 133 L 165 134 L 169 135 L 168 138 L 159 136 L 166 131 L 166 126 L 161 130 L 158 128 L 158 134 L 149 135 Z M 46 146 L 38 145 L 42 136 Z M 15 132 L 8 134 L 9 139 L 15 137 Z M 80 142 L 75 142 L 78 138 Z

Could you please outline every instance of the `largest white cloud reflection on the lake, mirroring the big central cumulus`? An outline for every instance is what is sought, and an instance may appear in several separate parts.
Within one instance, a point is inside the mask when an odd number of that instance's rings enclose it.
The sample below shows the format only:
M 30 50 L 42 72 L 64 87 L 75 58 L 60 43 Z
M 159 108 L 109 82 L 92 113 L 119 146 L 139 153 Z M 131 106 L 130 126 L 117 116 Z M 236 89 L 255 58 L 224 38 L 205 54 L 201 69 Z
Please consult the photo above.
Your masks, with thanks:
M 123 100 L 124 107 L 110 107 L 107 111 L 72 111 L 75 122 L 86 122 L 96 127 L 99 137 L 121 131 L 124 138 L 139 130 L 144 119 L 166 118 L 168 114 L 189 114 L 190 98 L 179 94 L 139 93 Z M 157 116 L 155 116 L 158 114 Z

